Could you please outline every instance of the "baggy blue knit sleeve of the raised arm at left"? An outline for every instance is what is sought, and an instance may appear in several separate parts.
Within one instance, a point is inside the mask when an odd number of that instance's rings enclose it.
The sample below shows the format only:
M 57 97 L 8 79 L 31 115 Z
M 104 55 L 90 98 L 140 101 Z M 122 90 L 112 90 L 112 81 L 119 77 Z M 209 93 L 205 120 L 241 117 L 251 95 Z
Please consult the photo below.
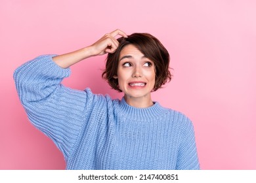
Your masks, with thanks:
M 56 65 L 53 56 L 24 63 L 14 71 L 14 81 L 30 122 L 50 137 L 67 159 L 84 125 L 87 108 L 93 105 L 93 94 L 60 84 L 70 69 Z

